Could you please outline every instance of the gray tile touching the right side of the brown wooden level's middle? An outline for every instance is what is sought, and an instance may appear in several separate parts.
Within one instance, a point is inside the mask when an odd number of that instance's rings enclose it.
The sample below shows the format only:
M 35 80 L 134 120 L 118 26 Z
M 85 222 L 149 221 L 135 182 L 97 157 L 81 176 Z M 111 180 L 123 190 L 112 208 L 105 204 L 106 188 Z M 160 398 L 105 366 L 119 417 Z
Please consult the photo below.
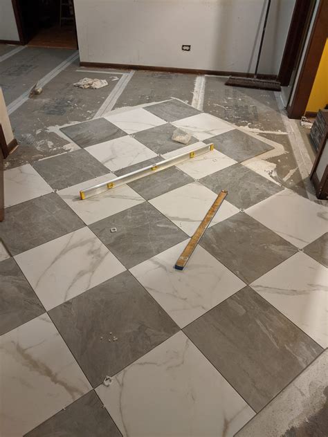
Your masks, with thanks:
M 244 212 L 210 227 L 201 245 L 246 283 L 297 252 L 291 243 Z

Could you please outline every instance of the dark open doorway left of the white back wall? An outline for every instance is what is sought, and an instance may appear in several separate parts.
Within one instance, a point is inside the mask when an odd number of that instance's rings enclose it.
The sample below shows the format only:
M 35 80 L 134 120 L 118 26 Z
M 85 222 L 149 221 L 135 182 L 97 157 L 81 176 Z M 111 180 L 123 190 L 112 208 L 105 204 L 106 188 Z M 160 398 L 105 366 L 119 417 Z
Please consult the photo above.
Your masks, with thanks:
M 73 0 L 12 0 L 12 4 L 23 44 L 78 48 Z

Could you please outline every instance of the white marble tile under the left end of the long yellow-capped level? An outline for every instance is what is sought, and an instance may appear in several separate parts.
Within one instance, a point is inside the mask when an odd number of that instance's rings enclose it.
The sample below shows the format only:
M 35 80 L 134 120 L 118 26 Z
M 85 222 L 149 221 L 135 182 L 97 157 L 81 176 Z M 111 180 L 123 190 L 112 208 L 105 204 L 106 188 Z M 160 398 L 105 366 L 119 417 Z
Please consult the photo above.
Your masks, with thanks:
M 112 178 L 115 178 L 114 174 L 105 174 L 99 178 L 73 185 L 73 187 L 61 189 L 57 194 L 82 218 L 86 225 L 145 202 L 145 199 L 128 185 L 109 189 L 107 192 L 86 198 L 84 201 L 80 199 L 81 189 L 92 187 Z

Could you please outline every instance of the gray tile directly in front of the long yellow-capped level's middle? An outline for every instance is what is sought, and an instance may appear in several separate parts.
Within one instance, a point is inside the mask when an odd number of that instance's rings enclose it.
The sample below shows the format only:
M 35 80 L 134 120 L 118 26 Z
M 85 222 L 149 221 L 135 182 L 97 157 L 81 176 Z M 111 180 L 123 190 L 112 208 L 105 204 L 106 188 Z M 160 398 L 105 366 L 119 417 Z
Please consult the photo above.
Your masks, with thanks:
M 193 181 L 194 179 L 188 174 L 183 173 L 176 167 L 170 167 L 145 178 L 140 178 L 130 183 L 129 186 L 147 201 Z

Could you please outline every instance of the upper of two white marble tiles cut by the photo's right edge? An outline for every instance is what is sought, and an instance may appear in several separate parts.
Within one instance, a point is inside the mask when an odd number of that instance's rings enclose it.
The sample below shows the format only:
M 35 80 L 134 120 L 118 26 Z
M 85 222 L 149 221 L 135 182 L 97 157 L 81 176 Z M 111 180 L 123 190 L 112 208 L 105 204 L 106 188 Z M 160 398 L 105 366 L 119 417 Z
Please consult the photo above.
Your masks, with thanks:
M 328 208 L 290 189 L 253 205 L 246 212 L 297 248 L 312 243 L 328 228 Z

